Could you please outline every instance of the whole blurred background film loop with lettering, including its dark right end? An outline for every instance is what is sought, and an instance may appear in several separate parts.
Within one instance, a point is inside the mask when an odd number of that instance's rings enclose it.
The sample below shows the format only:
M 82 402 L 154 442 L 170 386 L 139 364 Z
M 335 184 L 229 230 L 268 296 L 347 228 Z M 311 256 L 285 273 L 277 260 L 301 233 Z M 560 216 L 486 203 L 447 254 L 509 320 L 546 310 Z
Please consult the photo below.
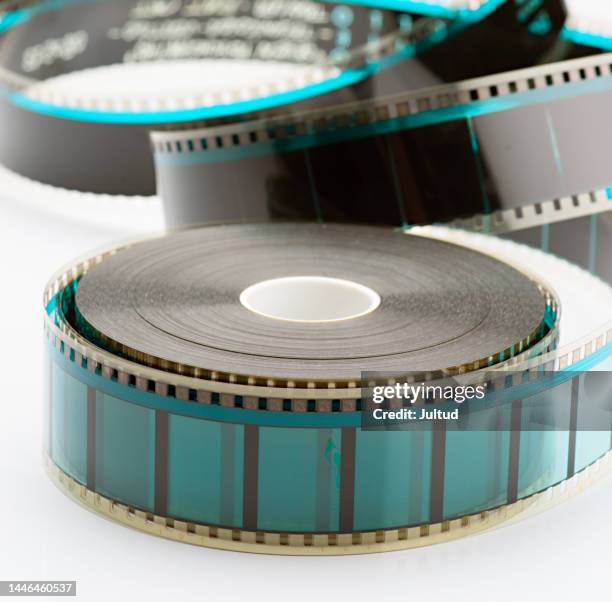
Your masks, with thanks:
M 392 85 L 445 81 L 460 65 L 477 74 L 531 65 L 554 43 L 565 17 L 558 0 L 531 6 L 491 0 L 469 3 L 471 10 L 452 4 L 460 9 L 453 16 L 400 12 L 403 2 L 372 4 L 17 3 L 0 22 L 6 131 L 0 160 L 62 188 L 150 195 L 152 124 L 378 95 Z M 428 5 L 406 2 L 410 10 Z M 512 40 L 512 52 L 488 51 L 499 43 L 492 34 L 500 32 Z M 451 42 L 449 65 L 437 47 Z M 414 57 L 424 54 L 421 65 Z M 156 99 L 154 69 L 161 60 L 174 61 L 177 84 L 171 95 Z M 100 74 L 106 78 L 95 84 Z M 194 85 L 196 76 L 206 85 Z M 135 80 L 149 84 L 138 89 Z M 91 85 L 97 89 L 88 96 Z

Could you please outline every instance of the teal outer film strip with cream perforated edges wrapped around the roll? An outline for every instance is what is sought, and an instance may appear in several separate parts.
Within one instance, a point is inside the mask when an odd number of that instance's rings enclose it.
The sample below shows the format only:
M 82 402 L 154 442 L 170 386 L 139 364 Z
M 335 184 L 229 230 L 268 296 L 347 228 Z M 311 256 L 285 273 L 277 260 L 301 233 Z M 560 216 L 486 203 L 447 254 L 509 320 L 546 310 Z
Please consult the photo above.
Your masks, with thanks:
M 205 382 L 92 346 L 67 320 L 94 263 L 48 290 L 45 451 L 77 499 L 94 509 L 97 499 L 99 511 L 108 503 L 111 518 L 125 509 L 144 530 L 262 552 L 390 549 L 412 545 L 415 530 L 422 544 L 567 487 L 610 450 L 611 325 L 502 370 L 500 387 L 458 428 L 380 432 L 363 428 L 358 389 L 331 399 Z M 603 406 L 595 419 L 594 405 Z M 215 541 L 197 540 L 204 532 Z

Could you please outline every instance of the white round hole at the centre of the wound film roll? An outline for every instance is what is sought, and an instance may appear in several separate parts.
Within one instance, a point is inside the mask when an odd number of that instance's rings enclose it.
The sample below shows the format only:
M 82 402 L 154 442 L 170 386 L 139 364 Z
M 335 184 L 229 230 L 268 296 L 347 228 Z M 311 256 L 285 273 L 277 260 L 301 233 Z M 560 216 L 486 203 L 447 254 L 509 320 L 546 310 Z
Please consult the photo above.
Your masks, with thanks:
M 289 276 L 244 289 L 240 303 L 256 314 L 289 322 L 339 322 L 365 316 L 380 305 L 371 288 L 325 276 Z

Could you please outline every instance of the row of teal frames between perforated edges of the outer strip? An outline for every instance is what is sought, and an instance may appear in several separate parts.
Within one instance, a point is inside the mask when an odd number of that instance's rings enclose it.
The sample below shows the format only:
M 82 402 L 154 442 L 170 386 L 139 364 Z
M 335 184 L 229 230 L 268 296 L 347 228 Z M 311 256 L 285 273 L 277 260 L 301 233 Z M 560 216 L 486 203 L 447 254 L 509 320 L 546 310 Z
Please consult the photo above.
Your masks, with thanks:
M 610 449 L 605 425 L 570 428 L 580 372 L 539 394 L 552 396 L 566 431 L 534 431 L 541 418 L 537 404 L 530 409 L 534 396 L 525 396 L 524 412 L 516 403 L 488 411 L 501 421 L 494 432 L 380 433 L 347 425 L 347 414 L 317 428 L 298 426 L 293 413 L 277 420 L 275 412 L 256 412 L 263 423 L 253 424 L 240 409 L 226 422 L 146 407 L 124 398 L 127 386 L 123 397 L 92 386 L 103 377 L 67 370 L 67 361 L 50 352 L 52 460 L 120 503 L 219 528 L 340 533 L 452 520 L 545 490 Z

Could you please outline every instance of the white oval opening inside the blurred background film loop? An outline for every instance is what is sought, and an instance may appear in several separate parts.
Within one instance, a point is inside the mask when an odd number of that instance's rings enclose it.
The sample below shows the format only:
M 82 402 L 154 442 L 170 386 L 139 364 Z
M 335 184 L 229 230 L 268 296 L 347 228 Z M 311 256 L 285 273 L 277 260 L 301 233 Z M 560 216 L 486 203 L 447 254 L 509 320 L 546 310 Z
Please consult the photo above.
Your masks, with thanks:
M 332 67 L 276 61 L 173 60 L 83 69 L 34 84 L 30 98 L 99 110 L 188 109 L 248 100 L 333 77 Z

